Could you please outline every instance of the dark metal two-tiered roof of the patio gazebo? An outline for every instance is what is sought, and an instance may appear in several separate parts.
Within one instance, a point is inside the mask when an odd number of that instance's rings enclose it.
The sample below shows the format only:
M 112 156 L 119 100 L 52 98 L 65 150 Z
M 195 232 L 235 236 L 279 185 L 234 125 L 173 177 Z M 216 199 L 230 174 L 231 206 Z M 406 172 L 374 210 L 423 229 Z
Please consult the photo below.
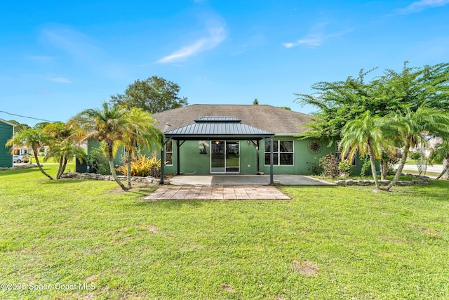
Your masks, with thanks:
M 166 138 L 177 140 L 210 140 L 212 138 L 261 139 L 274 133 L 241 123 L 234 117 L 201 117 L 195 123 L 165 131 Z

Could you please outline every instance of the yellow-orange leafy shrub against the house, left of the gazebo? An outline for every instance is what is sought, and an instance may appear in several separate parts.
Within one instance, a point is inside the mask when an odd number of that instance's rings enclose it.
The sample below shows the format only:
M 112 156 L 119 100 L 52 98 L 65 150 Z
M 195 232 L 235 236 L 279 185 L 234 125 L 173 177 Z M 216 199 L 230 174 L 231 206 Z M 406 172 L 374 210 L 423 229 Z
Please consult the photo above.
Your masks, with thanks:
M 153 153 L 152 157 L 146 157 L 145 155 L 133 157 L 131 160 L 131 176 L 152 176 L 155 178 L 160 178 L 161 164 L 162 161 L 157 158 L 156 152 Z M 124 175 L 128 174 L 127 164 L 124 164 L 116 170 Z

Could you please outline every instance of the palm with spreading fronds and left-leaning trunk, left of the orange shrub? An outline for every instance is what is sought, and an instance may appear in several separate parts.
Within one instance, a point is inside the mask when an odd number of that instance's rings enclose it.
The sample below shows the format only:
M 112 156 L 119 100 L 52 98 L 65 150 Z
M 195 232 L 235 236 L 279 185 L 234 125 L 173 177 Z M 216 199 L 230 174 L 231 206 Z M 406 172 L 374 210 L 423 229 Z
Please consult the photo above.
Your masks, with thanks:
M 68 122 L 69 126 L 75 127 L 79 141 L 95 138 L 105 146 L 111 174 L 123 190 L 126 188 L 117 178 L 114 156 L 118 145 L 123 141 L 123 133 L 126 133 L 130 126 L 127 113 L 128 110 L 125 107 L 103 103 L 101 109 L 83 110 Z

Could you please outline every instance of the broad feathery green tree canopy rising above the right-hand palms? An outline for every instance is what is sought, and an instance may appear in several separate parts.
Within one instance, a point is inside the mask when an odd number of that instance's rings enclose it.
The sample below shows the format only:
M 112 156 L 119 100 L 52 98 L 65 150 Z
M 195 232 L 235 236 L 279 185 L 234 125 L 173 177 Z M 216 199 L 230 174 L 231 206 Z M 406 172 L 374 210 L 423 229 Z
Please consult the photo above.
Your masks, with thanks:
M 339 139 L 344 125 L 367 110 L 380 117 L 423 104 L 449 111 L 449 63 L 409 67 L 405 62 L 401 72 L 385 70 L 367 81 L 373 70 L 345 81 L 321 81 L 311 86 L 314 93 L 296 94 L 298 103 L 319 109 L 302 137 Z

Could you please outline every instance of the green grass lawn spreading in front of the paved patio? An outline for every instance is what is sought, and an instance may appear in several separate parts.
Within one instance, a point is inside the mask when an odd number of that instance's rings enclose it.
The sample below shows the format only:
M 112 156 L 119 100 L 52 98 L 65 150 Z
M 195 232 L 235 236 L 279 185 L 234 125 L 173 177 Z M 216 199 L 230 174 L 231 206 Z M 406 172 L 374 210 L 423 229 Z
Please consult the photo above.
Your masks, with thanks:
M 449 298 L 448 181 L 281 187 L 286 201 L 117 187 L 0 171 L 0 299 Z

